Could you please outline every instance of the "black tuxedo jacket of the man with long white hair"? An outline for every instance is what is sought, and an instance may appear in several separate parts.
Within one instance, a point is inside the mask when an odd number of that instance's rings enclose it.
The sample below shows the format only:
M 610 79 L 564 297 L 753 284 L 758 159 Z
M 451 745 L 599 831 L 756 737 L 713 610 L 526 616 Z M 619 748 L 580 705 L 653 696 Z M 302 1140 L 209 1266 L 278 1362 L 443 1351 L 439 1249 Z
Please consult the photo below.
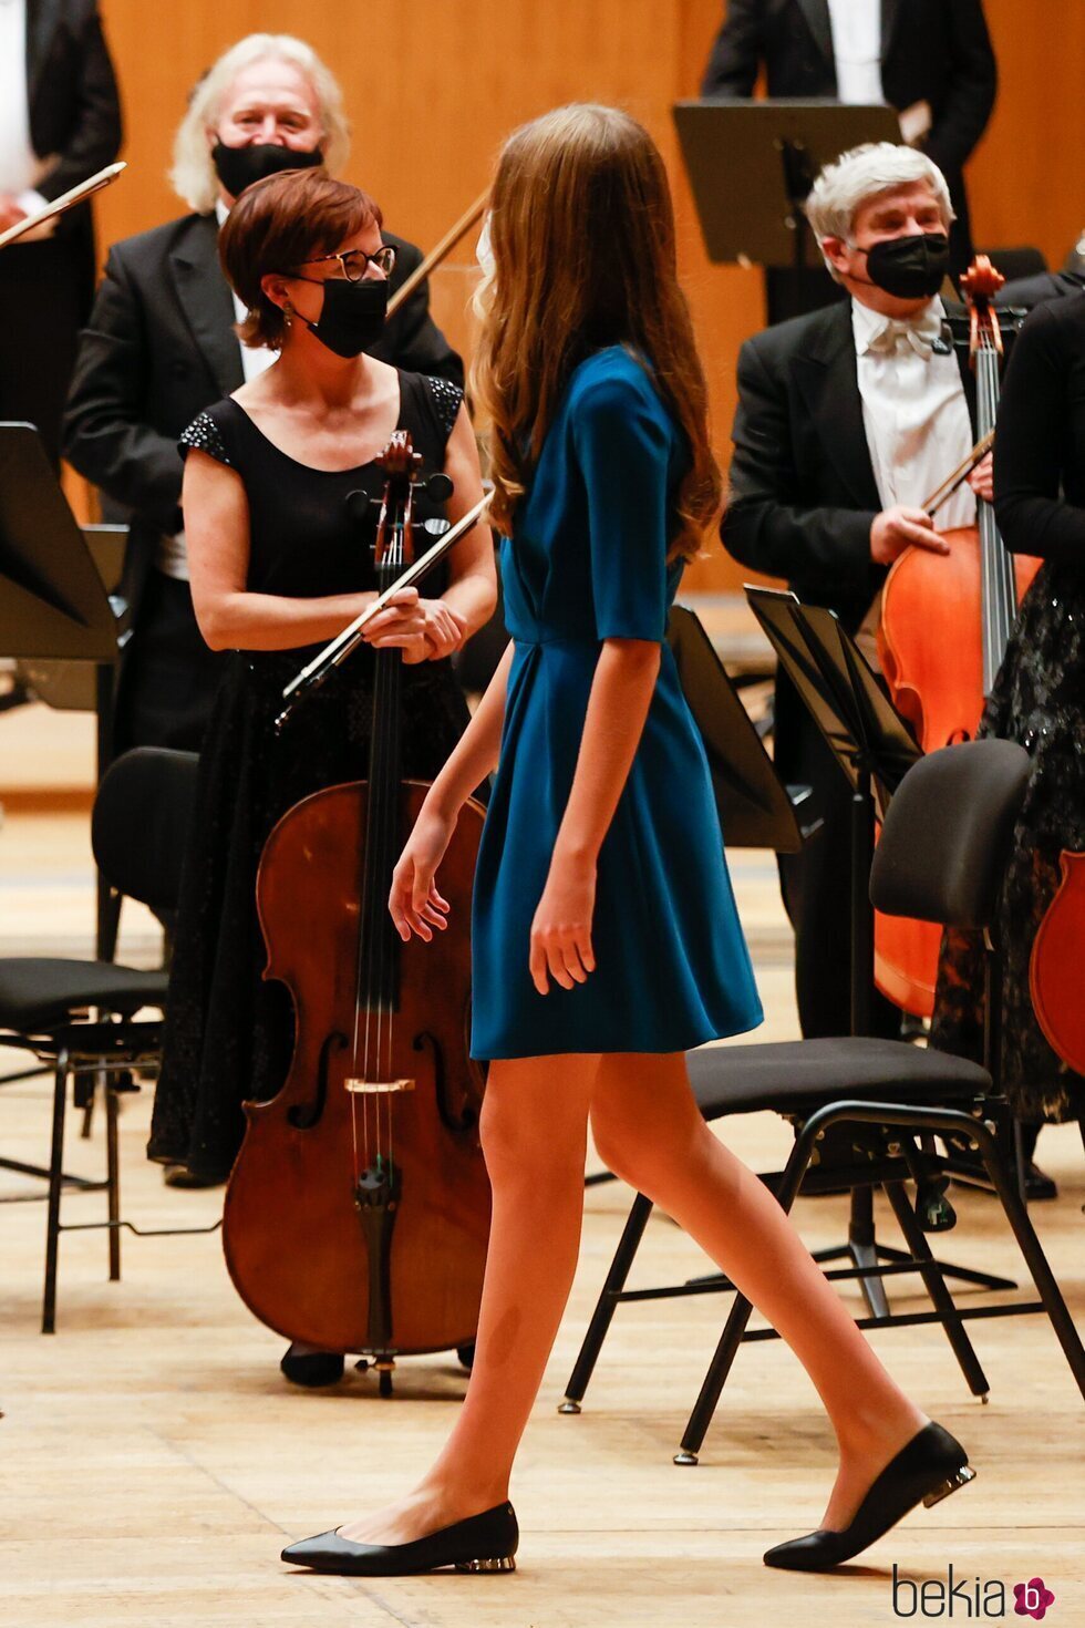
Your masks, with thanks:
M 392 293 L 421 252 L 392 233 Z M 181 529 L 177 436 L 244 383 L 234 304 L 218 260 L 215 215 L 185 215 L 114 244 L 63 420 L 63 456 L 114 505 L 132 511 L 129 597 L 163 532 Z M 373 355 L 412 373 L 464 383 L 464 365 L 429 316 L 423 283 L 389 317 Z

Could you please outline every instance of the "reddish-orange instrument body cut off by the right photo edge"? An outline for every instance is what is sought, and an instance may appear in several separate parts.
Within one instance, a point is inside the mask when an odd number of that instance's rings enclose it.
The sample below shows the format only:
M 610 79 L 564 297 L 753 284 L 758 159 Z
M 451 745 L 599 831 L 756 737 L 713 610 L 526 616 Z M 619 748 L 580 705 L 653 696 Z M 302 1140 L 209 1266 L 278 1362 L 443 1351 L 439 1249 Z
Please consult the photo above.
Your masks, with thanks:
M 1085 853 L 1064 850 L 1061 871 L 1036 930 L 1028 988 L 1048 1045 L 1085 1074 Z

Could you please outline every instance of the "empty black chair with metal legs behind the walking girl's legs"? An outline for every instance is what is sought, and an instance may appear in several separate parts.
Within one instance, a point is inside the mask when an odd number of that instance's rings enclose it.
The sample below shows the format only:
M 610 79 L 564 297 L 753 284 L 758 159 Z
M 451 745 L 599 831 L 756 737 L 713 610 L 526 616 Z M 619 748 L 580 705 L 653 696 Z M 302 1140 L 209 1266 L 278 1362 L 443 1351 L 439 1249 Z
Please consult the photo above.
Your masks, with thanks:
M 991 939 L 996 900 L 1013 822 L 1025 796 L 1030 759 L 1010 741 L 974 741 L 921 759 L 890 804 L 870 873 L 870 899 L 888 915 L 978 928 L 987 943 L 987 1001 L 1000 1009 L 1000 961 Z M 997 1057 L 989 1026 L 987 1058 Z M 704 1047 L 691 1052 L 690 1078 L 706 1120 L 765 1109 L 787 1118 L 795 1144 L 784 1171 L 761 1177 L 789 1211 L 795 1197 L 883 1187 L 906 1250 L 878 1249 L 877 1258 L 830 1270 L 831 1280 L 862 1281 L 919 1273 L 934 1311 L 885 1312 L 859 1319 L 861 1328 L 939 1322 L 974 1395 L 987 1379 L 965 1330 L 966 1319 L 1046 1312 L 1085 1395 L 1085 1350 L 1013 1179 L 1013 1117 L 989 1068 L 900 1040 L 828 1039 L 768 1045 Z M 953 1224 L 947 1179 L 934 1133 L 961 1133 L 979 1149 L 1007 1221 L 1039 1293 L 1038 1301 L 958 1307 L 947 1271 L 989 1284 L 983 1273 L 943 1268 L 926 1231 Z M 909 1197 L 906 1182 L 916 1188 Z M 579 1413 L 615 1309 L 623 1302 L 734 1291 L 727 1325 L 701 1385 L 675 1464 L 696 1464 L 739 1345 L 776 1340 L 774 1328 L 747 1332 L 752 1306 L 722 1275 L 667 1288 L 626 1291 L 652 1203 L 633 1201 L 618 1250 L 566 1387 L 561 1413 Z M 836 1255 L 839 1250 L 826 1252 Z M 1002 1286 L 1015 1288 L 1010 1280 Z

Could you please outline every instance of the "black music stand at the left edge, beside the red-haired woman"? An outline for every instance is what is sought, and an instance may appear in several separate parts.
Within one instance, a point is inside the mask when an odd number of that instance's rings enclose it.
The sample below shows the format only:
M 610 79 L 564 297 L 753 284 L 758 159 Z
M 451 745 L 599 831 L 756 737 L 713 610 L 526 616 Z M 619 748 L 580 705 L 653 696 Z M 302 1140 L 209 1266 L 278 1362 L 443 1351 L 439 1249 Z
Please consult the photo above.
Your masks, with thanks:
M 88 531 L 89 537 L 68 508 L 34 425 L 0 423 L 0 654 L 31 664 L 31 672 L 42 663 L 72 663 L 81 669 L 80 694 L 88 705 L 93 694 L 98 713 L 101 778 L 112 755 L 119 645 L 115 606 L 106 593 L 98 554 L 106 568 L 115 527 Z M 67 703 L 81 705 L 70 698 Z M 99 877 L 99 959 L 109 959 L 109 891 Z

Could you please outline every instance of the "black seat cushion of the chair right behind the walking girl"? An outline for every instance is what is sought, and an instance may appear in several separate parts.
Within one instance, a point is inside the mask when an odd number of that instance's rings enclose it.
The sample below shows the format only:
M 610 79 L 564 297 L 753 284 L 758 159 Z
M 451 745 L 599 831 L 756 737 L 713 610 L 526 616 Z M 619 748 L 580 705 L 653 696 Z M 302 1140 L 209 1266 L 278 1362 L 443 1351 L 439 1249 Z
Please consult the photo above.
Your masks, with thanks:
M 839 1097 L 947 1102 L 992 1091 L 991 1074 L 948 1052 L 843 1035 L 768 1045 L 709 1045 L 686 1055 L 704 1118 L 817 1107 Z

